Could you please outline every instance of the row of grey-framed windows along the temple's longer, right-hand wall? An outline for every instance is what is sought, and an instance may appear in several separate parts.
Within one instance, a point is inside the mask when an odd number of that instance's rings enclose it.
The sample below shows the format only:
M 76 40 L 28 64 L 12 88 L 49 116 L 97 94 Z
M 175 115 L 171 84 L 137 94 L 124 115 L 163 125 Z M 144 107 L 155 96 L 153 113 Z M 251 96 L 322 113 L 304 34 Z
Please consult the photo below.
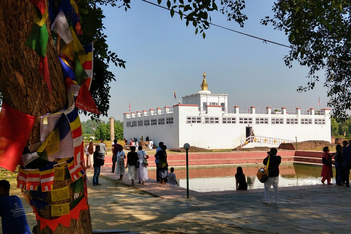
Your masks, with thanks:
M 219 123 L 219 117 L 204 117 L 204 123 Z M 253 123 L 253 118 L 239 118 L 239 123 Z M 300 119 L 301 124 L 312 124 L 312 119 Z M 202 117 L 188 116 L 186 123 L 201 123 Z M 223 117 L 222 123 L 237 123 L 236 117 Z M 269 118 L 255 118 L 256 124 L 269 124 Z M 284 118 L 271 118 L 271 124 L 284 124 Z M 286 124 L 299 124 L 298 119 L 286 118 Z M 314 119 L 314 124 L 325 124 L 325 119 Z

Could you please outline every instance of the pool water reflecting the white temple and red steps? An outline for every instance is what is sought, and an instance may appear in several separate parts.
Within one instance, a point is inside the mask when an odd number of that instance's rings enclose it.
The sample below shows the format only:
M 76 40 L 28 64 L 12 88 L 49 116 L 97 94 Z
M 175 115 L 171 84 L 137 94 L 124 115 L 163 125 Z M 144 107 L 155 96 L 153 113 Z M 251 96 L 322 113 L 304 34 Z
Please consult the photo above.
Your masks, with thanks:
M 256 173 L 259 167 L 243 167 L 243 172 L 246 176 L 248 189 L 264 188 L 264 184 L 256 178 Z M 198 192 L 224 191 L 235 190 L 235 167 L 224 168 L 198 168 L 189 170 L 189 189 Z M 279 187 L 299 186 L 299 185 L 315 185 L 320 183 L 322 179 L 320 172 L 322 167 L 304 166 L 304 165 L 281 165 L 279 167 Z M 179 185 L 186 188 L 186 170 L 176 169 L 175 171 Z M 149 172 L 154 174 L 154 172 Z M 333 175 L 335 170 L 333 168 Z M 150 177 L 152 178 L 152 177 Z M 335 183 L 335 179 L 332 179 Z

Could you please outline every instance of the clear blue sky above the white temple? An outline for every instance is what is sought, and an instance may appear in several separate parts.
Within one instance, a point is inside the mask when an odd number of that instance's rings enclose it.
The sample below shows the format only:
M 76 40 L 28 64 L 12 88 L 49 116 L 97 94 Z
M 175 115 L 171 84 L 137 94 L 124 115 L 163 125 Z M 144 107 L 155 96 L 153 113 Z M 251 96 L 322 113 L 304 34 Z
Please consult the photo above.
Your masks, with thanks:
M 219 12 L 211 13 L 212 23 L 289 45 L 284 32 L 260 25 L 260 19 L 272 16 L 272 4 L 249 1 L 244 28 Z M 195 35 L 191 24 L 186 27 L 179 15 L 171 18 L 169 11 L 139 0 L 131 1 L 127 12 L 117 7 L 103 9 L 109 49 L 127 63 L 126 69 L 110 66 L 117 81 L 110 84 L 110 110 L 102 120 L 110 116 L 123 120 L 129 102 L 132 112 L 172 106 L 174 89 L 177 102 L 181 96 L 197 93 L 204 72 L 212 93 L 229 94 L 229 107 L 317 109 L 320 97 L 320 108 L 328 108 L 323 72 L 318 74 L 322 82 L 316 83 L 313 91 L 296 91 L 307 84 L 308 69 L 296 62 L 291 69 L 285 66 L 288 48 L 215 26 L 207 29 L 203 39 L 201 34 Z M 81 116 L 82 121 L 87 119 Z

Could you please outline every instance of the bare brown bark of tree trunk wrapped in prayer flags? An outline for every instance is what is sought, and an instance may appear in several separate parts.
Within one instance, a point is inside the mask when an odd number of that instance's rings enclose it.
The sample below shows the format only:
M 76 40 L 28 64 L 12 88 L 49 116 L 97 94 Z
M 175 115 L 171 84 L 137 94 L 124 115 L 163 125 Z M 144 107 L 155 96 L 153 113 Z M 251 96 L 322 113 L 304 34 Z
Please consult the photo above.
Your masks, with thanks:
M 48 88 L 38 72 L 39 55 L 25 45 L 33 25 L 33 8 L 34 5 L 29 0 L 0 1 L 0 89 L 4 101 L 9 106 L 23 113 L 39 117 L 46 113 L 60 111 L 66 104 L 67 91 L 61 64 L 49 30 L 49 20 L 46 23 L 49 32 L 47 59 L 52 85 L 51 93 L 48 92 Z M 40 120 L 37 119 L 28 138 L 27 146 L 40 141 L 39 133 Z M 71 183 L 72 180 L 54 181 L 54 188 L 66 187 Z M 59 202 L 52 202 L 51 196 L 48 195 L 47 202 L 58 204 L 74 200 L 71 187 L 70 195 L 69 200 Z M 46 206 L 46 209 L 37 210 L 42 218 L 53 219 L 49 206 Z M 48 227 L 40 230 L 39 222 L 35 233 L 54 233 Z M 72 219 L 70 227 L 59 224 L 55 233 L 92 233 L 90 211 L 82 210 L 79 220 Z

